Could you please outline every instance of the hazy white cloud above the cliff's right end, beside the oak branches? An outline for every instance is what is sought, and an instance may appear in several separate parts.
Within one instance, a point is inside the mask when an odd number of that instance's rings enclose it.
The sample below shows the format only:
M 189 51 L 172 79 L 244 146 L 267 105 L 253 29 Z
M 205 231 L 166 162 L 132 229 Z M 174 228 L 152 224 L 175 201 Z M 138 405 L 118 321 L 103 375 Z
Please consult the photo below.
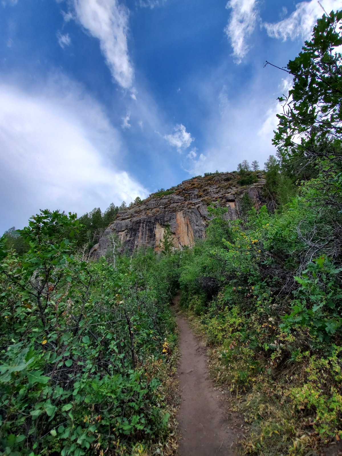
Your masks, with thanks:
M 223 104 L 217 96 L 211 98 L 210 118 L 206 119 L 202 128 L 199 127 L 203 137 L 202 153 L 195 158 L 187 157 L 184 168 L 192 176 L 216 170 L 233 171 L 244 159 L 264 163 L 269 155 L 274 155 L 273 130 L 278 124 L 276 114 L 281 110 L 275 98 L 284 91 L 284 85 L 270 97 L 258 78 L 246 89 L 250 97 L 241 95 L 228 99 L 227 95 Z M 212 97 L 207 95 L 205 88 L 203 85 L 203 96 Z

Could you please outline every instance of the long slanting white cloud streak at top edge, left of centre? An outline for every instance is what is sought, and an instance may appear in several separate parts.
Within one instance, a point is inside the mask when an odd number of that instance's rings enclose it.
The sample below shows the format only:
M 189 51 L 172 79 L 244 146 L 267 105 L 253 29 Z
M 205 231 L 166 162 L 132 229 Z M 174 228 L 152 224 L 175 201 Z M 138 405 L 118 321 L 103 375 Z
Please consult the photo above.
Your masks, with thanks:
M 113 78 L 121 87 L 130 89 L 134 70 L 127 46 L 127 8 L 117 0 L 74 0 L 74 7 L 82 26 L 100 40 Z

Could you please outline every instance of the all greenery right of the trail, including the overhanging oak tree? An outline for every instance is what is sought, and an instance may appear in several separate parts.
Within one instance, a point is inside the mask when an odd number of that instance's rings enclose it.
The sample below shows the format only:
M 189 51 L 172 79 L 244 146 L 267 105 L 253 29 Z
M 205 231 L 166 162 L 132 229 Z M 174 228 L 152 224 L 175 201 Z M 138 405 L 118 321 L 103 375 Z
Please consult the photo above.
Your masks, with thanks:
M 273 213 L 225 222 L 211 207 L 206 240 L 181 259 L 182 305 L 241 400 L 248 454 L 320 454 L 342 435 L 341 18 L 323 16 L 288 64 L 278 158 L 265 164 Z

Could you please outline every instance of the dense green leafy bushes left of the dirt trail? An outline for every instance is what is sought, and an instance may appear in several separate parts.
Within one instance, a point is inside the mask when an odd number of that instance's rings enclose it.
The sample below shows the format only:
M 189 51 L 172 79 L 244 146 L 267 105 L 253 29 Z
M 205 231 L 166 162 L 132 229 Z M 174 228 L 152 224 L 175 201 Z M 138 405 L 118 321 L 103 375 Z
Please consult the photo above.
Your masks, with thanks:
M 151 255 L 142 262 L 138 254 L 133 264 L 123 257 L 115 269 L 105 259 L 79 260 L 80 229 L 76 214 L 43 211 L 21 231 L 27 254 L 2 245 L 6 456 L 123 454 L 168 434 L 158 368 L 150 365 L 167 357 L 172 276 L 160 282 Z

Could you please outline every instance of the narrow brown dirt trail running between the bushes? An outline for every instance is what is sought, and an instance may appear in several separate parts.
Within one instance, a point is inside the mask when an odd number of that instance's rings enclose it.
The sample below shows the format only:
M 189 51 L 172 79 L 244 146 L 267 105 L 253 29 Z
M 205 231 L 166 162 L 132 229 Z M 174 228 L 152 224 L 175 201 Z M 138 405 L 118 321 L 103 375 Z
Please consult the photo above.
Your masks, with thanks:
M 173 303 L 177 306 L 180 296 Z M 209 379 L 207 356 L 188 322 L 177 316 L 181 363 L 181 407 L 178 415 L 182 438 L 179 456 L 233 456 L 237 432 L 227 420 L 222 393 Z M 221 397 L 218 397 L 221 396 Z M 227 409 L 227 408 L 226 408 Z M 235 424 L 235 423 L 234 423 Z

